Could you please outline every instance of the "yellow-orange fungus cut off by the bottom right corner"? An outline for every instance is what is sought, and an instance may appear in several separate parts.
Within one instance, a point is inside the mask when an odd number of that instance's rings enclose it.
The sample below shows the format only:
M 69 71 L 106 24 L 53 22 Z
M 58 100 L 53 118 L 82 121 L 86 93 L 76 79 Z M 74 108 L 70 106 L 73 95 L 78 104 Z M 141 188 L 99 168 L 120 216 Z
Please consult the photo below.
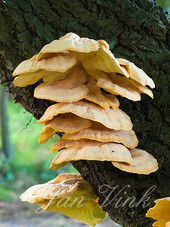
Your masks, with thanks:
M 157 220 L 153 226 L 170 227 L 170 197 L 165 197 L 155 201 L 156 205 L 150 208 L 146 217 Z

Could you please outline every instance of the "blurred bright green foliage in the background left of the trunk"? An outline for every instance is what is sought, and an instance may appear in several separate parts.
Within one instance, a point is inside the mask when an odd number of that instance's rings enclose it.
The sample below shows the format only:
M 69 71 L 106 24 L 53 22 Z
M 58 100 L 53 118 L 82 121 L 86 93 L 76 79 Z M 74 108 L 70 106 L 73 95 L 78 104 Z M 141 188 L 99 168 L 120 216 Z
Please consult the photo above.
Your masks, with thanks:
M 0 201 L 16 200 L 28 187 L 45 183 L 62 172 L 77 172 L 71 165 L 58 171 L 49 170 L 56 153 L 50 153 L 51 145 L 59 137 L 54 135 L 47 143 L 40 145 L 38 139 L 42 125 L 23 107 L 9 101 L 8 116 L 13 159 L 7 160 L 0 153 Z M 0 147 L 1 147 L 0 142 Z

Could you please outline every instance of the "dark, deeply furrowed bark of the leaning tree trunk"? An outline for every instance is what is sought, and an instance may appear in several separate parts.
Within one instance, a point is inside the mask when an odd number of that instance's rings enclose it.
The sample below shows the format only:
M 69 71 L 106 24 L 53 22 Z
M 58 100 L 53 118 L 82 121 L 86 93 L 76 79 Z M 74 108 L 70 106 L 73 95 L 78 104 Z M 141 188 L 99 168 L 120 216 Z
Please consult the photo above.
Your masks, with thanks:
M 149 0 L 0 0 L 0 78 L 8 87 L 15 102 L 36 118 L 50 105 L 48 101 L 33 98 L 35 86 L 16 88 L 11 71 L 22 60 L 31 57 L 40 48 L 67 32 L 80 36 L 104 39 L 116 57 L 123 57 L 141 67 L 156 83 L 154 100 L 143 96 L 141 102 L 121 99 L 121 109 L 132 119 L 139 138 L 139 147 L 152 153 L 159 162 L 159 170 L 149 176 L 122 172 L 109 162 L 80 161 L 73 165 L 92 185 L 102 204 L 109 194 L 99 192 L 103 184 L 118 188 L 114 195 L 130 185 L 104 209 L 110 217 L 124 227 L 151 226 L 145 218 L 142 203 L 138 207 L 115 207 L 123 196 L 140 200 L 151 186 L 157 188 L 150 194 L 153 200 L 170 194 L 170 151 L 168 116 L 168 60 L 170 46 L 167 15 Z M 169 45 L 169 46 L 168 46 Z

